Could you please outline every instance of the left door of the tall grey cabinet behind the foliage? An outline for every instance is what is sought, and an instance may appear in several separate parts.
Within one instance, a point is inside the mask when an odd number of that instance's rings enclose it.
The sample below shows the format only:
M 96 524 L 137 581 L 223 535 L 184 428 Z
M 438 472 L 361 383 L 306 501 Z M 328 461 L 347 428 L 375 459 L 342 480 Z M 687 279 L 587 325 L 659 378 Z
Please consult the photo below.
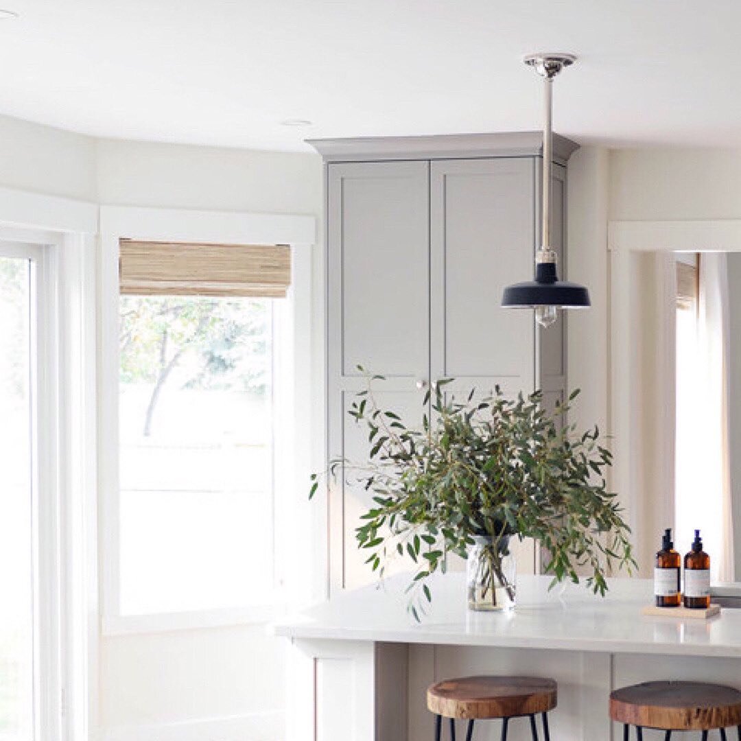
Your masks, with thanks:
M 428 162 L 328 166 L 328 452 L 368 459 L 368 431 L 348 414 L 365 388 L 358 365 L 385 376 L 379 405 L 422 419 L 418 381 L 430 377 Z M 356 547 L 371 494 L 348 467 L 330 486 L 330 584 L 355 588 L 375 574 Z

